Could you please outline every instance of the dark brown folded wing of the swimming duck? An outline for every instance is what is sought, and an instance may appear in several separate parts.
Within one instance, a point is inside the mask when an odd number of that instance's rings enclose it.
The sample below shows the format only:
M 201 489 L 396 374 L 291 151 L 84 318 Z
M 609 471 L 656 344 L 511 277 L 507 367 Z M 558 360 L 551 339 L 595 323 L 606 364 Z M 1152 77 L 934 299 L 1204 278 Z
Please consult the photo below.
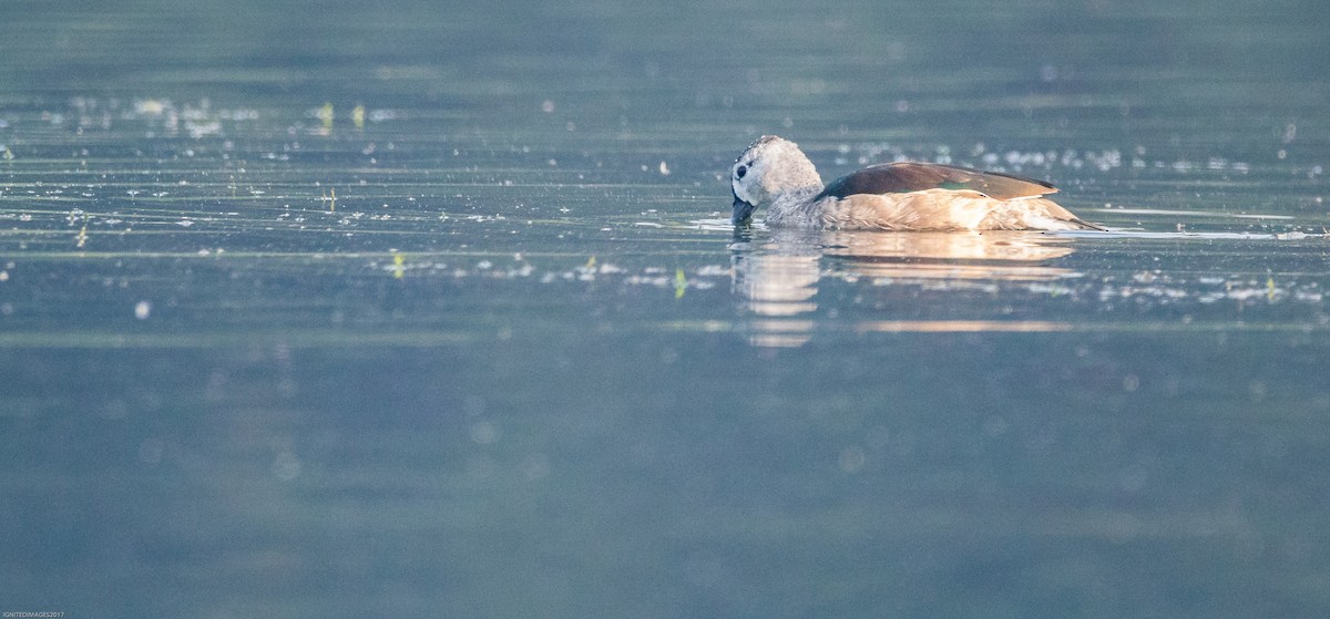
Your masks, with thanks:
M 902 194 L 930 189 L 979 191 L 996 199 L 1033 198 L 1057 193 L 1057 187 L 1032 178 L 942 163 L 900 162 L 868 166 L 831 181 L 817 199 L 846 198 L 855 194 Z

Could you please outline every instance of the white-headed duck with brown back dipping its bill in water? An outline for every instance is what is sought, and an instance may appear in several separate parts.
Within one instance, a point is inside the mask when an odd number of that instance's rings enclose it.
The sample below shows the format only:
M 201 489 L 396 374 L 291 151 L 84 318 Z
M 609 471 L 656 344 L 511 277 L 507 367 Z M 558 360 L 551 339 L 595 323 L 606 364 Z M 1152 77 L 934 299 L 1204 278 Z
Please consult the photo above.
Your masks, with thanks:
M 1032 178 L 942 163 L 879 163 L 822 185 L 799 146 L 762 135 L 730 169 L 732 223 L 766 209 L 773 227 L 886 231 L 1105 230 L 1047 198 Z

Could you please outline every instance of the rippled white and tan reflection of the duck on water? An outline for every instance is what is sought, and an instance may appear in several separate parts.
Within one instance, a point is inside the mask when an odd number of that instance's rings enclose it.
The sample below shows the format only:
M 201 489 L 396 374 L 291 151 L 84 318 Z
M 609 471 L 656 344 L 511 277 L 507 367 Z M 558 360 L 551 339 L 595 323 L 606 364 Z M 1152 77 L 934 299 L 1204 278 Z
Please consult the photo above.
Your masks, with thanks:
M 874 295 L 882 298 L 891 298 L 887 290 L 895 286 L 939 295 L 931 302 L 911 296 L 914 311 L 907 320 L 884 320 L 887 316 L 880 312 L 870 312 L 864 317 L 871 320 L 850 323 L 857 331 L 1055 331 L 1061 325 L 994 320 L 986 312 L 958 319 L 954 302 L 967 307 L 966 295 L 975 291 L 991 299 L 999 294 L 996 284 L 1003 282 L 1013 284 L 1001 288 L 1003 294 L 1020 299 L 1024 294 L 1019 291 L 1027 287 L 1047 287 L 1079 275 L 1047 264 L 1071 255 L 1075 239 L 1027 231 L 880 234 L 774 228 L 762 240 L 749 231 L 735 238 L 733 290 L 754 319 L 749 323 L 750 341 L 762 347 L 807 343 L 818 325 L 825 324 L 818 317 L 818 288 L 830 280 L 871 283 L 866 290 L 878 290 Z M 990 306 L 991 300 L 974 307 Z M 843 313 L 839 310 L 843 308 L 830 308 Z M 928 319 L 919 320 L 919 315 Z M 943 315 L 950 317 L 932 319 Z

